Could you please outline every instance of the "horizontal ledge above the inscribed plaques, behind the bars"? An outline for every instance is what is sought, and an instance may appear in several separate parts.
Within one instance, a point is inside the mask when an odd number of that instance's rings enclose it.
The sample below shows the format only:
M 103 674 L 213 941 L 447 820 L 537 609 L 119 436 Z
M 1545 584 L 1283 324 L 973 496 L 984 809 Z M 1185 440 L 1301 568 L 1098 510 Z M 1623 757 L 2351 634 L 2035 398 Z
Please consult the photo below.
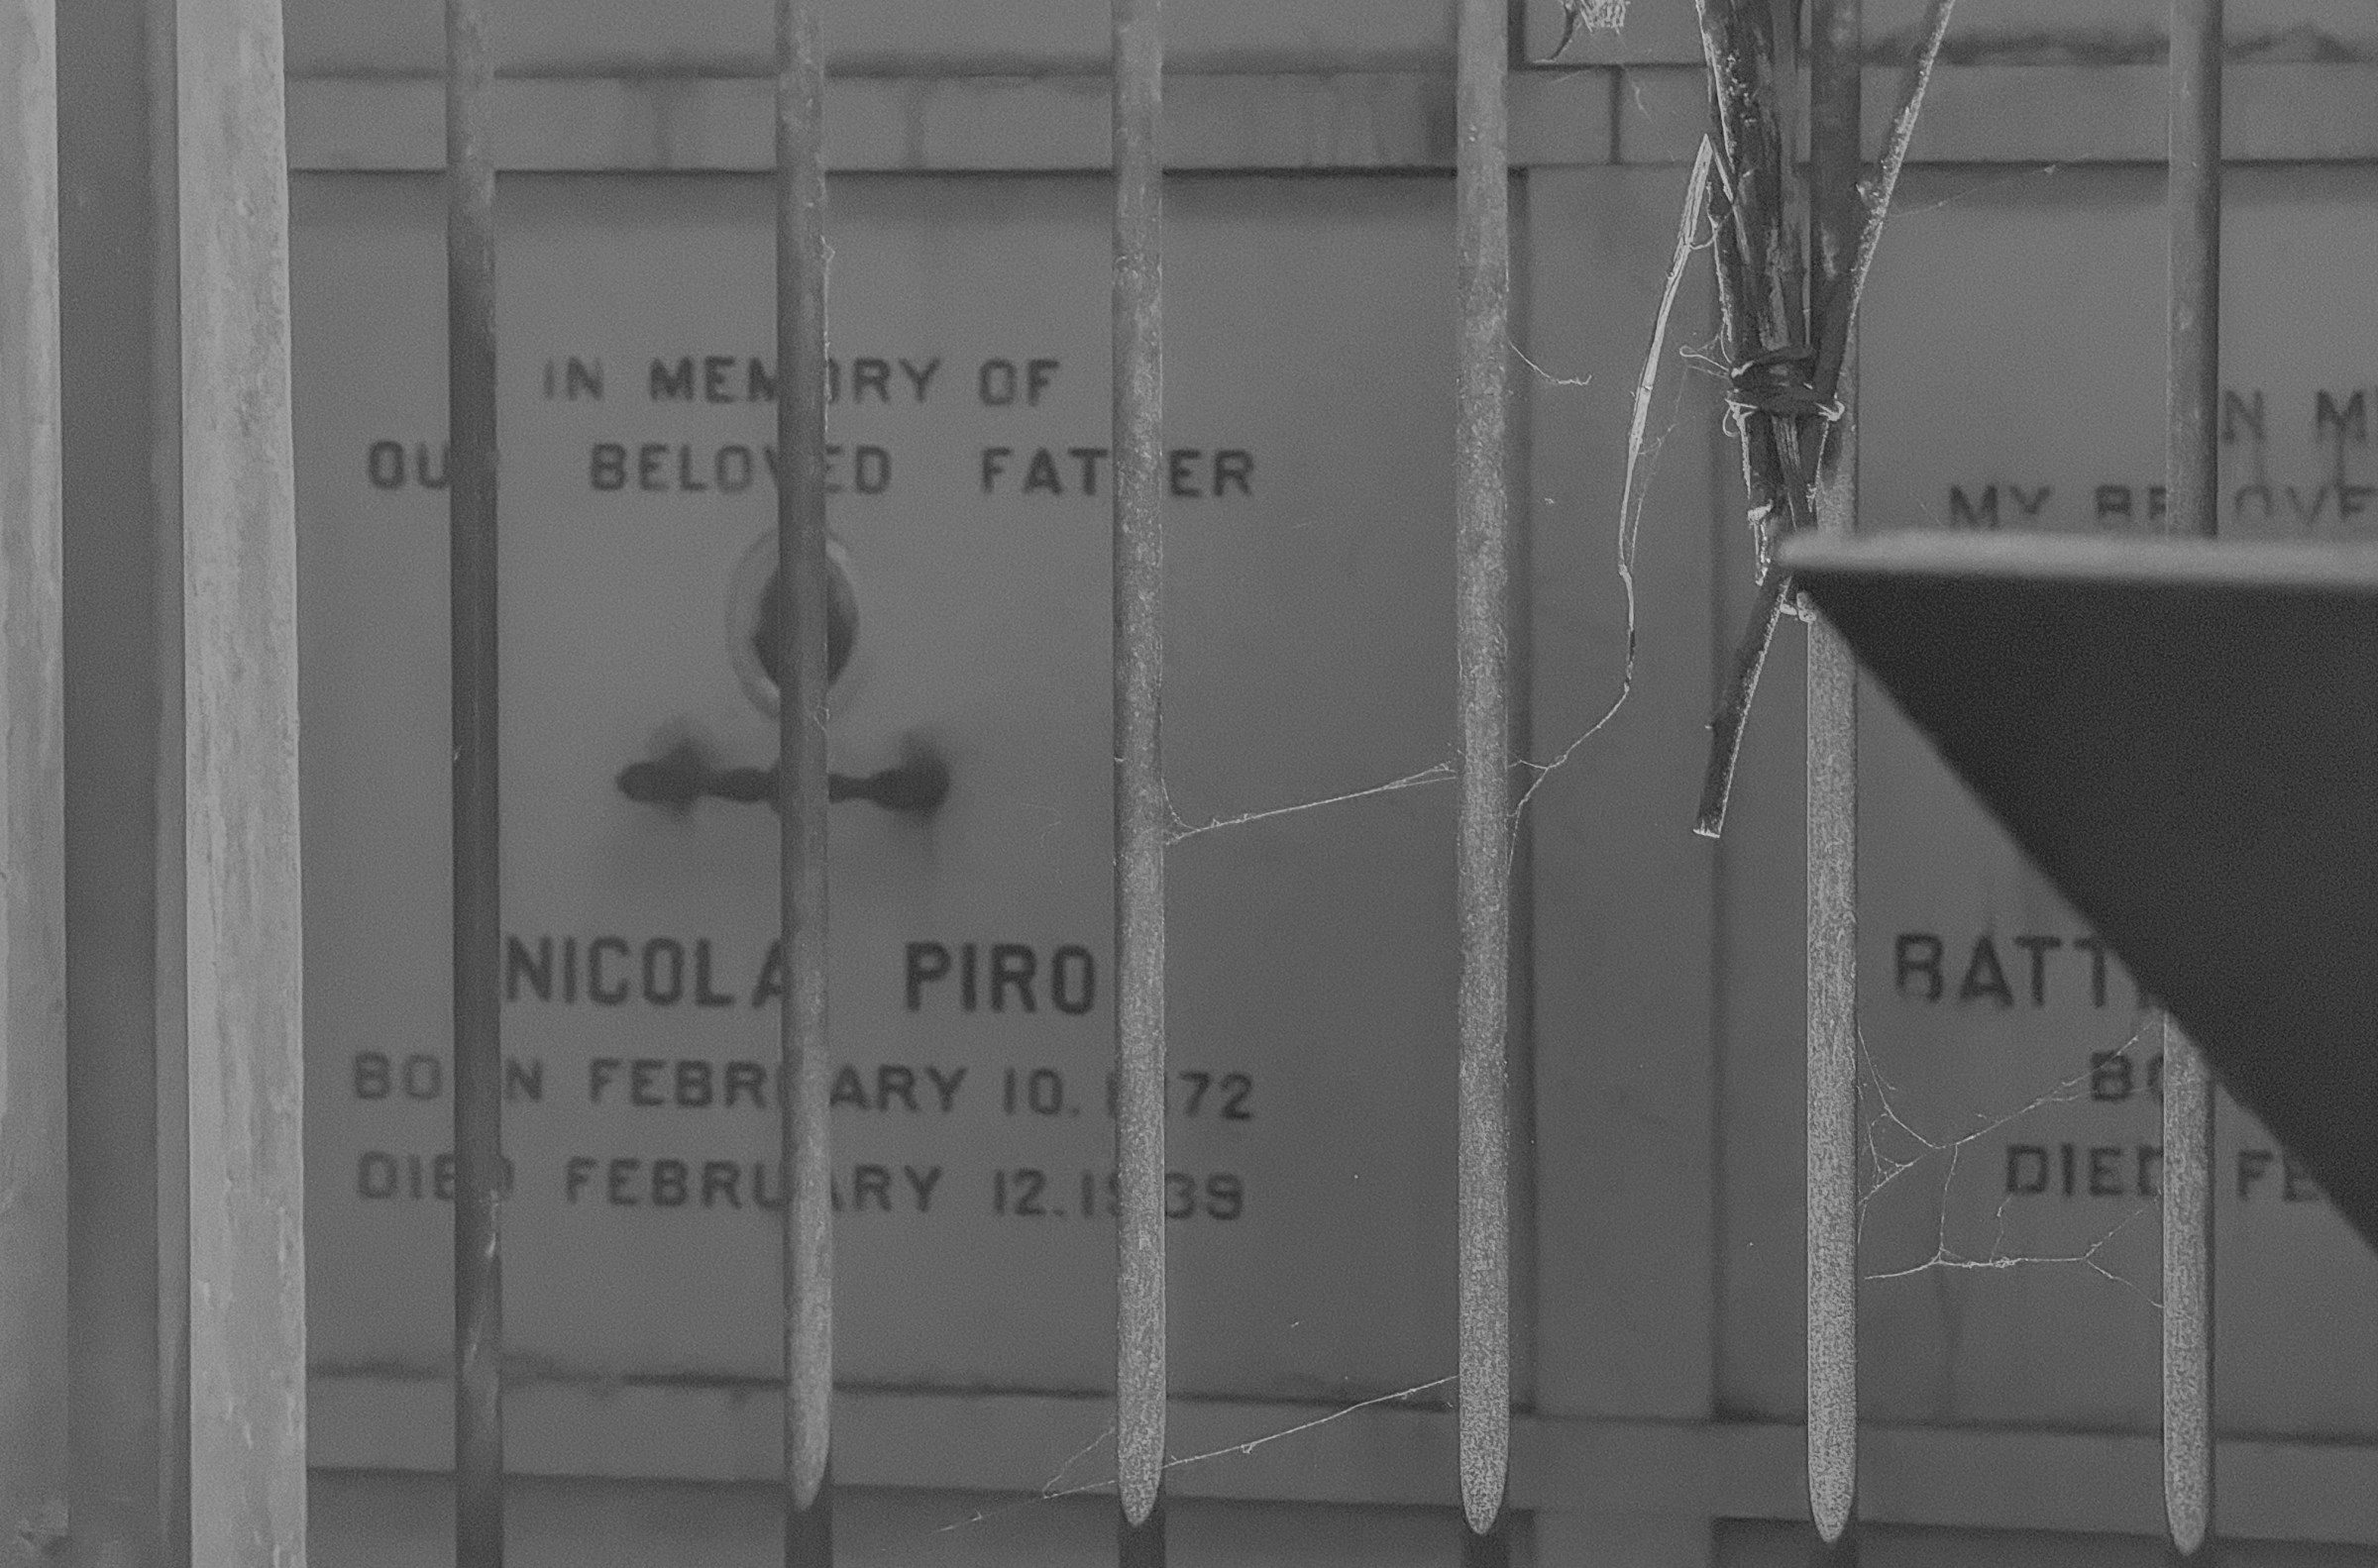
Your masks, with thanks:
M 1888 121 L 1898 71 L 1867 71 L 1867 135 Z M 1933 74 L 1917 164 L 2162 164 L 2159 67 L 1950 67 Z M 1451 171 L 1451 76 L 1310 71 L 1175 76 L 1165 166 L 1175 171 Z M 828 166 L 877 171 L 1075 171 L 1108 164 L 1106 76 L 873 76 L 828 86 Z M 2378 159 L 2378 64 L 2238 64 L 2226 157 Z M 1612 114 L 1615 109 L 1615 114 Z M 1698 67 L 1534 71 L 1510 78 L 1512 169 L 1688 164 L 1707 131 Z M 497 83 L 497 157 L 521 171 L 749 171 L 773 166 L 770 86 L 759 78 L 535 76 Z M 1617 126 L 1617 140 L 1612 140 Z M 290 166 L 442 166 L 435 78 L 297 76 Z

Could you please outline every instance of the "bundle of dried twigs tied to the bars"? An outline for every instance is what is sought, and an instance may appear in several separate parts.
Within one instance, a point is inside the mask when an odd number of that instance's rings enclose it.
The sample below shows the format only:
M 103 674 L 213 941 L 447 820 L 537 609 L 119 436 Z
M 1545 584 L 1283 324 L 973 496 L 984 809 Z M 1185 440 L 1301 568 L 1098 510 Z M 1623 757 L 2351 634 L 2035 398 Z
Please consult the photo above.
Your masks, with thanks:
M 1750 625 L 1710 725 L 1710 765 L 1693 824 L 1710 839 L 1724 827 L 1743 722 L 1791 601 L 1776 542 L 1817 527 L 1819 485 L 1841 449 L 1841 382 L 1857 302 L 1955 7 L 1955 0 L 1931 0 L 1881 164 L 1869 181 L 1860 173 L 1857 150 L 1855 12 L 1848 29 L 1838 26 L 1848 7 L 1826 5 L 1812 40 L 1812 157 L 1800 164 L 1805 2 L 1696 0 L 1715 128 L 1686 200 L 1707 202 L 1731 371 L 1729 428 L 1743 449 L 1743 489 L 1760 561 Z M 1829 138 L 1848 140 L 1848 147 L 1829 145 Z M 1688 223 L 1696 216 L 1686 211 Z

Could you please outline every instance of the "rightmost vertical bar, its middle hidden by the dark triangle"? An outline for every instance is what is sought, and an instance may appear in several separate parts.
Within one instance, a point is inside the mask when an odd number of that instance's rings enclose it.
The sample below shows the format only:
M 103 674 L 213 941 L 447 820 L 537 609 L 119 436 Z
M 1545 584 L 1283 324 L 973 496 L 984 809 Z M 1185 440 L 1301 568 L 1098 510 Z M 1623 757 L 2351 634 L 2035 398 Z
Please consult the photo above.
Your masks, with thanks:
M 2171 0 L 2169 527 L 2221 523 L 2221 0 Z M 2214 1086 L 2169 1014 L 2164 1036 L 2164 1520 L 2181 1561 L 2214 1551 Z

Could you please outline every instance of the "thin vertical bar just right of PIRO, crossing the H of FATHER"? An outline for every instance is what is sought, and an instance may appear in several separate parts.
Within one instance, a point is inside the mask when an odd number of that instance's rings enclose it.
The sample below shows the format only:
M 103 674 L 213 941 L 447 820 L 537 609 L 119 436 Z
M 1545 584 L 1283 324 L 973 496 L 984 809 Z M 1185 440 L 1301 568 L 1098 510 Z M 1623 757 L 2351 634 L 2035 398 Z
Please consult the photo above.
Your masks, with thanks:
M 1127 1566 L 1165 1554 L 1163 67 L 1163 0 L 1115 0 L 1115 1490 Z

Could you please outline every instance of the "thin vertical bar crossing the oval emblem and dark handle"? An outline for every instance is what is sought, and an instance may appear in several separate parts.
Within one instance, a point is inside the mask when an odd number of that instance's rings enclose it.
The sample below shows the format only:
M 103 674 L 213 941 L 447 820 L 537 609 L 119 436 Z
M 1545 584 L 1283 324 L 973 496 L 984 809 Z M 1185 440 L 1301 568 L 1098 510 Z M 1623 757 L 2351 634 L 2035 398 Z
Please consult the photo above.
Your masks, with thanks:
M 835 1214 L 825 1041 L 825 55 L 775 7 L 778 917 L 785 943 L 785 1568 L 832 1561 Z

